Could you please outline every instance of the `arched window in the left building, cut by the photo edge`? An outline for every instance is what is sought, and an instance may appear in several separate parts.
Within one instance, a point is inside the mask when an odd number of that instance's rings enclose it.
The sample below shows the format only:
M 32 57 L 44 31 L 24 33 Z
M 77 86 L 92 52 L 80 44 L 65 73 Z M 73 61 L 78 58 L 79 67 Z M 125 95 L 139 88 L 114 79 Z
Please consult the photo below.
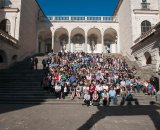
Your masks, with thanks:
M 10 33 L 11 23 L 8 19 L 4 19 L 0 22 L 0 29 L 6 33 Z

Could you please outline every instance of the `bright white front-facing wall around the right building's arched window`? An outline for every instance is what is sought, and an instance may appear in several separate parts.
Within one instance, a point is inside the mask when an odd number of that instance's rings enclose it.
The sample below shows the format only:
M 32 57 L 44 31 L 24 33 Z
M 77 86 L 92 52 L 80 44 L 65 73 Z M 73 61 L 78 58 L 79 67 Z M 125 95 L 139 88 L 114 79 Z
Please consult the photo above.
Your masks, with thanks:
M 150 3 L 150 10 L 141 10 L 142 0 L 130 0 L 131 1 L 131 20 L 132 20 L 132 41 L 135 41 L 141 36 L 141 23 L 144 20 L 151 22 L 151 26 L 154 26 L 159 22 L 159 1 L 160 0 L 147 0 Z M 134 45 L 134 42 L 133 42 Z

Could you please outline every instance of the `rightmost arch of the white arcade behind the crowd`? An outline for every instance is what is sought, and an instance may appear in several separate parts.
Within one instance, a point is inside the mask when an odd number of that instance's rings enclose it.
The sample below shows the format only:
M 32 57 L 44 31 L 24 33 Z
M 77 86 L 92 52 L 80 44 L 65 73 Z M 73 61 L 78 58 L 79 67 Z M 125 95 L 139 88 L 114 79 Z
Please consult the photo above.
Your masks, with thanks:
M 104 49 L 107 53 L 115 53 L 117 44 L 117 31 L 113 28 L 108 28 L 103 35 Z

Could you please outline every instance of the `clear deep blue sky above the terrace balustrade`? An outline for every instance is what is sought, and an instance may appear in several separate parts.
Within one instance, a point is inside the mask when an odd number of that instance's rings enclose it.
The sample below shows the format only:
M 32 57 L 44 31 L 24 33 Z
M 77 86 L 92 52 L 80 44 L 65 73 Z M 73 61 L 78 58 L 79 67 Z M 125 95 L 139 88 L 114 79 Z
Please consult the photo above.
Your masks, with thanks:
M 46 15 L 112 16 L 118 0 L 37 0 Z

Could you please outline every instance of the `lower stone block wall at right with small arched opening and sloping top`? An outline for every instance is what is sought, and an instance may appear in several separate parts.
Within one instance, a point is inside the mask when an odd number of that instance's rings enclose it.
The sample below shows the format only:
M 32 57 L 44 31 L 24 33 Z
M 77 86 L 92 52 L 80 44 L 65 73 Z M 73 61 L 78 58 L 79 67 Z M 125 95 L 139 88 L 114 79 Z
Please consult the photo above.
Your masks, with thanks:
M 138 45 L 139 46 L 133 49 L 133 55 L 137 58 L 137 62 L 140 63 L 141 67 L 144 69 L 151 69 L 154 72 L 158 71 L 158 67 L 160 65 L 160 35 L 154 33 L 151 36 L 146 37 L 143 41 L 139 42 Z M 151 55 L 151 64 L 146 64 L 146 58 L 144 55 L 146 52 L 150 53 Z

